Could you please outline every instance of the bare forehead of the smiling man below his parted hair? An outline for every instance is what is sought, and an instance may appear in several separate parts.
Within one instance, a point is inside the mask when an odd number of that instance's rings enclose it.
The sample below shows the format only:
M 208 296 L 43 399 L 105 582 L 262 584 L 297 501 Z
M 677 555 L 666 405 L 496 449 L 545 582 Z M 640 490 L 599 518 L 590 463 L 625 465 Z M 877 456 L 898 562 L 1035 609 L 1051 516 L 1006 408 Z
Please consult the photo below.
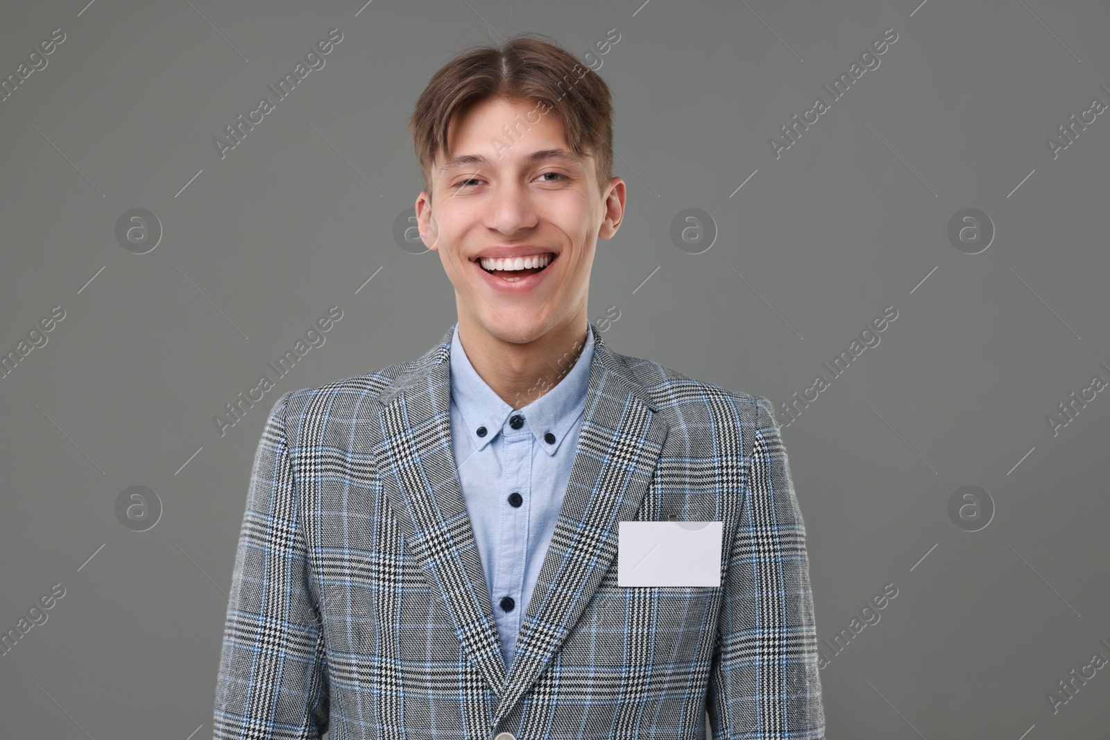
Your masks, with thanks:
M 447 152 L 436 154 L 436 175 L 458 169 L 495 169 L 541 160 L 585 166 L 592 158 L 571 151 L 563 121 L 528 100 L 487 99 L 456 112 L 447 126 Z

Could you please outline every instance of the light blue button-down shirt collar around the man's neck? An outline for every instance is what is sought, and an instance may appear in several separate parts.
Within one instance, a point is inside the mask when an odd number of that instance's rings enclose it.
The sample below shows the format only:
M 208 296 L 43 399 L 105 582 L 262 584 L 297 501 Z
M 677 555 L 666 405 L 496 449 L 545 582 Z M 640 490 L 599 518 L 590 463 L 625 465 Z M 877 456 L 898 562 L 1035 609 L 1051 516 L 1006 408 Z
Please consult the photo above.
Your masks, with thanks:
M 589 365 L 594 357 L 594 333 L 586 327 L 586 344 L 577 362 L 546 393 L 524 406 L 514 409 L 494 393 L 471 364 L 462 343 L 458 341 L 458 323 L 455 323 L 451 339 L 451 401 L 462 415 L 466 433 L 477 449 L 493 442 L 505 420 L 512 414 L 525 418 L 528 428 L 539 443 L 539 448 L 554 456 L 566 438 L 574 423 L 586 408 L 586 391 L 589 387 Z M 572 357 L 562 363 L 553 363 L 561 371 L 567 367 Z M 537 389 L 537 393 L 541 393 Z M 480 437 L 478 427 L 486 434 Z M 554 444 L 544 439 L 547 433 L 555 435 Z

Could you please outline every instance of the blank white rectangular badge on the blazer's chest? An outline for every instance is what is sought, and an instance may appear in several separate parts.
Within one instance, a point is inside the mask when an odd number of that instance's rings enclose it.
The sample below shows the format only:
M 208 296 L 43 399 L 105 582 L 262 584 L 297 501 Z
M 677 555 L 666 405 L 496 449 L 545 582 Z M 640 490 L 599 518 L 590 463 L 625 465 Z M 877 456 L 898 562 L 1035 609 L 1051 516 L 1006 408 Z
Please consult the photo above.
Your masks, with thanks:
M 618 586 L 720 586 L 722 521 L 620 521 Z

